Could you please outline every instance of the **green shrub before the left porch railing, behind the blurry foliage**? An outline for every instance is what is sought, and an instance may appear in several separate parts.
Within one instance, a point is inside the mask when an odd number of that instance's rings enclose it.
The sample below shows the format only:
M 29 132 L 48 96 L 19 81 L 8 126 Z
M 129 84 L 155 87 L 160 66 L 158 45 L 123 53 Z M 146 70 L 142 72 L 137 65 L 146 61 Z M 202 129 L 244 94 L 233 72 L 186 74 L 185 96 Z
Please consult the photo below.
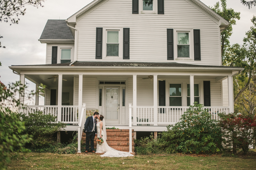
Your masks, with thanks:
M 29 113 L 29 116 L 20 113 L 19 116 L 25 124 L 24 133 L 33 138 L 31 141 L 33 147 L 53 144 L 55 141 L 52 140 L 52 135 L 66 127 L 64 123 L 57 122 L 56 117 L 42 112 Z

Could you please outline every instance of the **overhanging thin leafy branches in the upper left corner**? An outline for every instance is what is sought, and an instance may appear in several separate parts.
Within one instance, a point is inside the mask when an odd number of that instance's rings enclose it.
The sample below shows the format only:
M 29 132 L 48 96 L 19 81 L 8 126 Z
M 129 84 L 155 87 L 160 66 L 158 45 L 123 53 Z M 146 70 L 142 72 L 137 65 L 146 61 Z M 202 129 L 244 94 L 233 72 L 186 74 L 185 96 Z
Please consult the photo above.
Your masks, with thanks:
M 25 5 L 32 5 L 38 8 L 42 6 L 42 2 L 44 2 L 44 0 L 0 0 L 0 21 L 10 21 L 10 25 L 18 24 L 20 20 L 19 16 L 25 15 L 26 13 Z M 0 36 L 0 38 L 3 37 Z

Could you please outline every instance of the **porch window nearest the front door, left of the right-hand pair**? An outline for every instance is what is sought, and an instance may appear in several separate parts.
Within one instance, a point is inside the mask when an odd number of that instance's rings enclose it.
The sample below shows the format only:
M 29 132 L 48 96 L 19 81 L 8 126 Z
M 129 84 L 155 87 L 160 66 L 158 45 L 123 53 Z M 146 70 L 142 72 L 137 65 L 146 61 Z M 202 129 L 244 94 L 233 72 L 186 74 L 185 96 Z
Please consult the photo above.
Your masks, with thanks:
M 169 106 L 182 106 L 181 84 L 170 84 Z

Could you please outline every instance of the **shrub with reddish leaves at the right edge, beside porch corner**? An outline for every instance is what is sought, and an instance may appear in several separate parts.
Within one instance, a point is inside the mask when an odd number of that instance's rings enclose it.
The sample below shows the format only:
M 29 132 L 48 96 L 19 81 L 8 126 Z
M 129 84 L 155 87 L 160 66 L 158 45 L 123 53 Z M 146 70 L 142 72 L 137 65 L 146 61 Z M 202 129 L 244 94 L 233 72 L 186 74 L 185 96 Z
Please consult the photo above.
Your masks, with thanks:
M 227 148 L 233 147 L 236 153 L 237 145 L 241 147 L 243 153 L 249 151 L 249 145 L 253 144 L 256 137 L 256 117 L 252 114 L 219 114 L 224 143 Z

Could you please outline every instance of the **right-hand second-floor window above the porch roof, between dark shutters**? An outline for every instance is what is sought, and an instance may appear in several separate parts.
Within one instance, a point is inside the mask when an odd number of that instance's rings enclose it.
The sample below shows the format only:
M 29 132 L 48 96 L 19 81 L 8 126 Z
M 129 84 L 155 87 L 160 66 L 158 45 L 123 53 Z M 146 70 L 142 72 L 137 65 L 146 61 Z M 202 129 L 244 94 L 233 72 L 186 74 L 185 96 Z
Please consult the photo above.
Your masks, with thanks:
M 189 33 L 177 32 L 177 57 L 189 58 Z

